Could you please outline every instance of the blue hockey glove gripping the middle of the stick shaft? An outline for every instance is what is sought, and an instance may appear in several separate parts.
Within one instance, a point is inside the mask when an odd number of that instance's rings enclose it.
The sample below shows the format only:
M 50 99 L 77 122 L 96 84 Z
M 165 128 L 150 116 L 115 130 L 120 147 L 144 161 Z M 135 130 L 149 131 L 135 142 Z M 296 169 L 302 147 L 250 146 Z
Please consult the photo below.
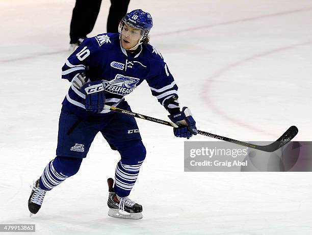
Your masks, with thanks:
M 173 134 L 176 137 L 190 139 L 193 135 L 197 135 L 196 122 L 189 108 L 183 107 L 182 112 L 171 114 L 168 117 L 179 126 L 173 128 Z

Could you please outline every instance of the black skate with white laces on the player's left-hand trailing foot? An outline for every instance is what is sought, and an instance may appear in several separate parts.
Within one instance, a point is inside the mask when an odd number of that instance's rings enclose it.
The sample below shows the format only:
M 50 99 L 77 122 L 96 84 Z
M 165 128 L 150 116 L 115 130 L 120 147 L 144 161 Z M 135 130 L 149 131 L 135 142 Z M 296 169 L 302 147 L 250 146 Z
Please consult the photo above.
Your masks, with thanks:
M 28 208 L 30 211 L 30 216 L 36 214 L 39 211 L 45 193 L 47 192 L 39 187 L 39 179 L 36 182 L 34 182 L 34 185 L 32 185 L 31 188 L 33 190 L 28 200 Z

